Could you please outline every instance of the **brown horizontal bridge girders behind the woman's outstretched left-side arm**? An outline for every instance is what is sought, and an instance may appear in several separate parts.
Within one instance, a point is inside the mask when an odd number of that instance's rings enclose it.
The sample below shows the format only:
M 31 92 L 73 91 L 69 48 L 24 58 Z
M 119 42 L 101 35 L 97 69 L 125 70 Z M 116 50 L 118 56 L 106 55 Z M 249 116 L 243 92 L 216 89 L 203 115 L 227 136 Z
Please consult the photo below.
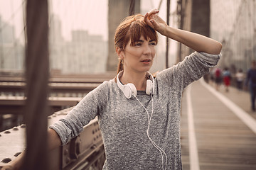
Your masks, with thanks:
M 49 115 L 55 111 L 75 106 L 83 96 L 103 81 L 113 79 L 114 72 L 104 74 L 55 75 L 49 79 Z M 26 103 L 26 83 L 19 75 L 0 77 L 0 131 L 21 125 Z

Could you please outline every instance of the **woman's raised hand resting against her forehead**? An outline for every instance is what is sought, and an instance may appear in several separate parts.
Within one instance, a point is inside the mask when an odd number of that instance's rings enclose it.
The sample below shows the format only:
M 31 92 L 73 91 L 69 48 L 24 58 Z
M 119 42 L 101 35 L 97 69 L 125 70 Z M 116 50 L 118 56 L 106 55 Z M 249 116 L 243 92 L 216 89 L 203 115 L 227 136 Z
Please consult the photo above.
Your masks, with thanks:
M 167 24 L 160 16 L 157 15 L 157 13 L 159 13 L 159 10 L 157 9 L 153 9 L 149 13 L 146 13 L 146 15 L 144 16 L 144 21 L 151 28 L 154 28 L 154 30 L 164 35 Z

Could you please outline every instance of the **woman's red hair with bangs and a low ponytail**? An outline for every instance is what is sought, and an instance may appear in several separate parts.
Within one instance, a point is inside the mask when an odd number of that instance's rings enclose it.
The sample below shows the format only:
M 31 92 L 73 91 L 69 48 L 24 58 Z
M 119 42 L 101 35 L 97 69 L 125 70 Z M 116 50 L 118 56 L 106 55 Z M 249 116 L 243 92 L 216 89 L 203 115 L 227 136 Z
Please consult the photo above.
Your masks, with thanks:
M 142 14 L 127 16 L 119 24 L 114 34 L 114 47 L 124 50 L 129 40 L 131 40 L 131 45 L 134 45 L 135 42 L 139 41 L 141 35 L 145 40 L 154 40 L 157 44 L 158 38 L 156 31 L 144 22 L 144 16 Z M 123 69 L 122 60 L 119 59 L 117 73 Z

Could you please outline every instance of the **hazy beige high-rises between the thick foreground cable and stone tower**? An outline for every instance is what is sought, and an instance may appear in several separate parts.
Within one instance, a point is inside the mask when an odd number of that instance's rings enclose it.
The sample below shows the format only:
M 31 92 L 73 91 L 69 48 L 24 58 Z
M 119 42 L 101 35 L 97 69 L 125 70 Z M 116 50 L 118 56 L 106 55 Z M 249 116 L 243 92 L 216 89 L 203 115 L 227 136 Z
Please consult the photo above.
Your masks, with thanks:
M 61 35 L 62 25 L 54 16 L 50 27 L 50 69 L 53 74 L 94 74 L 106 71 L 107 42 L 102 35 L 73 30 L 70 41 Z

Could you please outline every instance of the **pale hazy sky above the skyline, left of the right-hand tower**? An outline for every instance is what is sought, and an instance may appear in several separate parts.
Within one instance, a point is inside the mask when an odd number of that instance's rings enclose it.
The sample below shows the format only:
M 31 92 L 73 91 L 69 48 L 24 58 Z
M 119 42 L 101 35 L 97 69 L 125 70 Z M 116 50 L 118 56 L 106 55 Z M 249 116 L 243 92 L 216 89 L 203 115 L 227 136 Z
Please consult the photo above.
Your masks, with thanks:
M 159 7 L 158 1 L 146 1 L 141 0 L 141 13 L 146 13 L 152 8 Z M 176 11 L 176 1 L 171 1 L 171 13 Z M 3 1 L 0 0 L 0 15 L 4 22 L 8 22 L 10 25 L 14 26 L 15 40 L 16 42 L 21 42 L 25 44 L 24 26 L 23 26 L 23 13 L 26 11 L 26 5 L 23 4 L 22 0 L 10 0 Z M 5 8 L 4 8 L 5 7 Z M 97 10 L 95 10 L 97 9 Z M 49 12 L 49 26 L 55 27 L 56 23 L 53 25 L 53 18 L 58 18 L 60 21 L 60 29 L 57 31 L 60 33 L 61 37 L 65 41 L 70 42 L 72 38 L 72 32 L 75 30 L 87 30 L 90 35 L 102 35 L 103 40 L 108 40 L 108 0 L 97 0 L 97 1 L 67 1 L 67 0 L 51 0 L 48 1 Z M 166 20 L 166 0 L 162 1 L 161 10 L 159 16 Z M 175 16 L 170 17 L 170 25 L 174 25 Z M 1 28 L 1 26 L 0 26 Z M 56 29 L 56 28 L 54 28 Z M 50 36 L 60 35 L 57 33 L 52 33 Z M 51 38 L 51 37 L 49 37 Z M 55 38 L 55 39 L 58 39 Z M 53 38 L 54 39 L 54 38 Z M 112 39 L 112 41 L 114 41 Z M 169 41 L 169 64 L 172 65 L 176 61 L 174 56 L 176 54 L 176 42 Z M 158 56 L 163 56 L 163 52 L 166 50 L 166 38 L 159 35 L 159 45 L 157 45 Z M 163 57 L 159 57 L 158 62 L 164 60 Z

